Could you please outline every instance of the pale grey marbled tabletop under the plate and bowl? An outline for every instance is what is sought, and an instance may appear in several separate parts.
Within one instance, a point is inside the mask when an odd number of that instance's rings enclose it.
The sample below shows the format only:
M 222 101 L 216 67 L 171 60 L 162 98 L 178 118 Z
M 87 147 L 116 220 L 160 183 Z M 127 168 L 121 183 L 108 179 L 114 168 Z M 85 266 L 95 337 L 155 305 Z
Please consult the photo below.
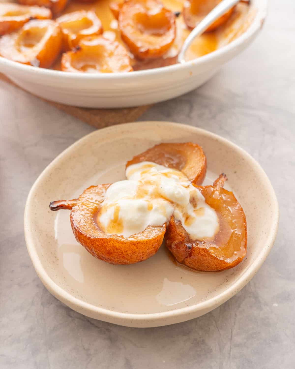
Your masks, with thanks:
M 75 313 L 44 288 L 25 247 L 25 200 L 45 166 L 93 128 L 0 82 L 0 368 L 295 368 L 294 13 L 293 0 L 271 1 L 242 55 L 142 117 L 236 142 L 263 166 L 280 202 L 277 241 L 257 275 L 185 323 L 120 327 Z

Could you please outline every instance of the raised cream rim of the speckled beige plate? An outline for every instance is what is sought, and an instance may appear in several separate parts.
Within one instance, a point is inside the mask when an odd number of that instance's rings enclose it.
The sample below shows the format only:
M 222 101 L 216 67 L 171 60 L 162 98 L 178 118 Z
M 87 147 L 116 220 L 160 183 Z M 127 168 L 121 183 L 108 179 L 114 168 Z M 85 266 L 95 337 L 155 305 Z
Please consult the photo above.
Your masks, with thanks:
M 133 313 L 121 313 L 119 311 L 113 311 L 108 310 L 106 308 L 98 307 L 93 304 L 87 303 L 85 301 L 82 301 L 78 299 L 77 297 L 72 296 L 69 292 L 66 292 L 62 289 L 62 287 L 58 286 L 46 273 L 46 270 L 44 269 L 41 259 L 38 257 L 37 250 L 34 245 L 34 241 L 31 236 L 31 214 L 30 214 L 30 204 L 35 196 L 35 189 L 37 188 L 38 184 L 43 180 L 43 177 L 46 177 L 51 169 L 56 165 L 57 162 L 59 162 L 60 158 L 62 158 L 65 154 L 72 151 L 73 149 L 77 149 L 81 144 L 84 142 L 87 142 L 90 136 L 97 135 L 98 139 L 102 132 L 107 131 L 124 131 L 124 130 L 130 130 L 132 128 L 140 128 L 140 125 L 167 125 L 167 127 L 175 127 L 175 128 L 181 128 L 182 130 L 185 129 L 187 132 L 192 133 L 198 133 L 201 135 L 204 135 L 206 137 L 213 138 L 222 144 L 229 146 L 231 149 L 234 149 L 237 151 L 238 154 L 242 155 L 245 159 L 251 162 L 253 168 L 255 168 L 260 175 L 263 177 L 265 187 L 267 187 L 268 192 L 270 193 L 271 198 L 273 199 L 272 203 L 272 209 L 271 211 L 274 214 L 273 218 L 273 224 L 271 226 L 271 231 L 268 234 L 267 241 L 261 247 L 261 250 L 256 257 L 256 259 L 253 261 L 253 263 L 243 272 L 243 274 L 237 278 L 236 282 L 233 283 L 230 287 L 226 288 L 223 292 L 217 294 L 214 297 L 211 297 L 207 300 L 201 301 L 200 303 L 194 304 L 192 306 L 182 307 L 175 310 L 160 312 L 160 313 L 147 313 L 147 314 L 133 314 Z M 268 179 L 266 173 L 261 168 L 260 164 L 250 155 L 248 154 L 244 149 L 240 148 L 238 145 L 234 144 L 233 142 L 229 141 L 228 139 L 225 139 L 217 134 L 214 134 L 210 131 L 206 131 L 202 128 L 193 127 L 190 125 L 180 124 L 180 123 L 173 123 L 173 122 L 167 122 L 167 121 L 140 121 L 140 122 L 133 122 L 133 123 L 125 123 L 125 124 L 118 124 L 113 125 L 111 127 L 102 128 L 101 130 L 96 130 L 91 132 L 90 134 L 87 134 L 86 136 L 80 138 L 76 142 L 74 142 L 72 145 L 70 145 L 68 148 L 66 148 L 62 153 L 60 153 L 53 161 L 46 166 L 46 168 L 42 171 L 42 173 L 39 175 L 33 186 L 31 187 L 31 190 L 28 194 L 27 201 L 25 204 L 25 211 L 24 211 L 24 235 L 25 235 L 25 242 L 27 245 L 28 253 L 30 255 L 30 258 L 32 260 L 32 263 L 34 265 L 34 268 L 37 272 L 37 275 L 41 279 L 41 281 L 45 284 L 45 287 L 49 289 L 51 293 L 54 294 L 55 297 L 60 299 L 61 301 L 67 301 L 71 306 L 79 307 L 80 309 L 83 309 L 85 312 L 91 312 L 99 314 L 101 317 L 104 318 L 114 318 L 117 321 L 125 320 L 129 321 L 159 321 L 167 318 L 172 317 L 178 317 L 183 315 L 189 315 L 193 314 L 197 311 L 205 311 L 206 309 L 212 310 L 215 307 L 218 307 L 222 303 L 224 303 L 226 300 L 230 299 L 230 297 L 234 296 L 237 292 L 239 292 L 246 284 L 250 281 L 250 279 L 256 274 L 262 263 L 267 258 L 267 255 L 269 254 L 276 235 L 278 231 L 278 223 L 279 223 L 279 205 L 277 196 L 275 194 L 274 188 Z M 208 310 L 207 310 L 208 311 Z M 86 314 L 87 315 L 87 314 Z M 169 323 L 167 323 L 169 324 Z M 171 324 L 171 323 L 170 323 Z

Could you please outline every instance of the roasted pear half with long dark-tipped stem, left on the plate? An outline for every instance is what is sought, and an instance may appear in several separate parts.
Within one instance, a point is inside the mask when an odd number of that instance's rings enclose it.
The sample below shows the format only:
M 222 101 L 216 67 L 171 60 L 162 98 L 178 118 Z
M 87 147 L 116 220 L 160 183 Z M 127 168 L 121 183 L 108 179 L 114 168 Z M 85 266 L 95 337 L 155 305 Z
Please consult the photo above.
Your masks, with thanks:
M 111 264 L 133 264 L 146 260 L 159 250 L 166 224 L 159 227 L 148 226 L 143 232 L 124 238 L 116 228 L 119 220 L 114 217 L 113 229 L 105 234 L 98 226 L 96 218 L 100 204 L 105 199 L 105 192 L 110 184 L 90 186 L 74 200 L 52 201 L 49 208 L 72 210 L 70 222 L 76 240 L 97 259 Z M 118 215 L 118 214 L 117 214 Z

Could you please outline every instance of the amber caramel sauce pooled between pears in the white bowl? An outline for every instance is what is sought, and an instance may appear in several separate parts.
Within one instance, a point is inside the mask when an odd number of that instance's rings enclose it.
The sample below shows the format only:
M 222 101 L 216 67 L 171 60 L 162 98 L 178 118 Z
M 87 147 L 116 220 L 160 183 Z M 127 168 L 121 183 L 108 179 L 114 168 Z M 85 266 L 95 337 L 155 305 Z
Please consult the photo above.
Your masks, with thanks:
M 117 20 L 115 20 L 114 15 L 109 8 L 109 4 L 111 3 L 111 1 L 112 0 L 97 0 L 89 4 L 70 1 L 62 14 L 72 13 L 73 11 L 82 9 L 95 10 L 103 25 L 103 36 L 112 40 L 117 40 L 124 47 L 126 47 L 121 39 L 120 31 L 117 27 Z M 171 65 L 176 63 L 176 55 L 180 51 L 184 40 L 190 34 L 190 30 L 187 29 L 184 23 L 183 16 L 181 14 L 184 1 L 163 0 L 163 4 L 166 8 L 172 11 L 180 12 L 180 16 L 176 19 L 176 39 L 167 54 L 163 56 L 163 58 L 147 61 L 137 61 L 133 57 L 133 55 L 130 54 L 132 65 L 135 70 L 157 68 L 159 66 Z M 200 56 L 209 54 L 210 52 L 215 51 L 216 49 L 233 41 L 233 39 L 246 31 L 247 27 L 249 27 L 251 21 L 253 20 L 254 15 L 255 11 L 253 11 L 253 9 L 249 11 L 249 6 L 247 4 L 239 3 L 225 25 L 222 25 L 214 32 L 205 33 L 195 39 L 195 41 L 192 43 L 191 47 L 187 51 L 187 60 L 192 60 Z M 61 57 L 56 60 L 56 62 L 52 66 L 52 69 L 61 70 L 60 59 Z

